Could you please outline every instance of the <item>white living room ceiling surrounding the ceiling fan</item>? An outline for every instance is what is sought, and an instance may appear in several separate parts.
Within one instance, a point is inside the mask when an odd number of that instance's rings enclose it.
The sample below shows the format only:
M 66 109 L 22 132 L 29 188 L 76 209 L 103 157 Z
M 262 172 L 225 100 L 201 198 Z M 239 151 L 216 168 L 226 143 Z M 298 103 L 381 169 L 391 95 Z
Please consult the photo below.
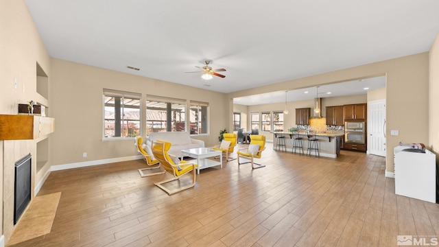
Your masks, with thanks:
M 429 51 L 439 33 L 437 0 L 25 2 L 51 57 L 222 93 Z M 204 60 L 226 78 L 185 73 Z

